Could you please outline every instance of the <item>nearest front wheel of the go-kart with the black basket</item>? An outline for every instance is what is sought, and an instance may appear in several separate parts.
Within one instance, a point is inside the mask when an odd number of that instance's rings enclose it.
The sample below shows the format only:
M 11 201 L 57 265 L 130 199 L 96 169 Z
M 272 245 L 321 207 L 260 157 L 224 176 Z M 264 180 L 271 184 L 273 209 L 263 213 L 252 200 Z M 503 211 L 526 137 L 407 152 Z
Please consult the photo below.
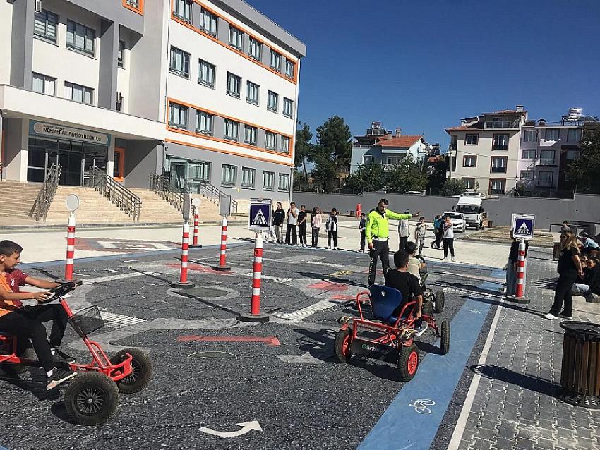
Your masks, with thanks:
M 119 405 L 119 389 L 102 373 L 83 372 L 69 384 L 64 403 L 78 425 L 100 425 L 109 420 Z

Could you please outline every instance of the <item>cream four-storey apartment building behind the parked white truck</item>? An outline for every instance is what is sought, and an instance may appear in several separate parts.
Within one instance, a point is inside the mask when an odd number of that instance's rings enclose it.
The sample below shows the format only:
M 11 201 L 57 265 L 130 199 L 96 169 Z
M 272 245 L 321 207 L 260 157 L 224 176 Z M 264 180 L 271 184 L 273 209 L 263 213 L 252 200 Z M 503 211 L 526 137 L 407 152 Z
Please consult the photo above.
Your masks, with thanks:
M 452 157 L 450 178 L 462 178 L 467 188 L 505 195 L 515 190 L 521 127 L 527 111 L 515 109 L 483 113 L 462 119 L 460 126 L 446 128 Z

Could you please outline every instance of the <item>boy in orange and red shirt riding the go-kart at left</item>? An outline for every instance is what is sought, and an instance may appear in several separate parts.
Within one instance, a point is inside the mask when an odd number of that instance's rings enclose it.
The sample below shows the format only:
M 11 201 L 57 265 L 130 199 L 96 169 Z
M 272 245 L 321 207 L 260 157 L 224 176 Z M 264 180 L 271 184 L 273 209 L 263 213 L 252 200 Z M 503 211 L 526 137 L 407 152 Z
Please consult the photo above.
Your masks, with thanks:
M 13 241 L 0 241 L 0 333 L 17 336 L 21 345 L 31 339 L 40 365 L 46 370 L 47 389 L 53 389 L 77 375 L 72 370 L 57 367 L 56 362 L 74 363 L 75 359 L 60 351 L 67 316 L 61 305 L 23 306 L 22 300 L 44 303 L 52 297 L 49 291 L 20 292 L 20 286 L 29 284 L 37 288 L 52 289 L 59 283 L 35 279 L 16 266 L 20 264 L 23 248 Z M 42 322 L 52 320 L 50 341 Z M 54 358 L 56 357 L 56 360 Z

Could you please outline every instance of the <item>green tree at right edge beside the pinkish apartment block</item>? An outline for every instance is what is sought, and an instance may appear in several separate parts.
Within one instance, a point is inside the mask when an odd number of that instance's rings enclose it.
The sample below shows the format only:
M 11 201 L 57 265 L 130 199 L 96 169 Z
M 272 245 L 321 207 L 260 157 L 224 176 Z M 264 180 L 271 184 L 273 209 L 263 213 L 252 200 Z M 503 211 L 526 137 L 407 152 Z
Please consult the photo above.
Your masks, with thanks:
M 580 147 L 580 157 L 569 164 L 568 176 L 575 182 L 575 192 L 600 194 L 600 127 L 586 130 Z

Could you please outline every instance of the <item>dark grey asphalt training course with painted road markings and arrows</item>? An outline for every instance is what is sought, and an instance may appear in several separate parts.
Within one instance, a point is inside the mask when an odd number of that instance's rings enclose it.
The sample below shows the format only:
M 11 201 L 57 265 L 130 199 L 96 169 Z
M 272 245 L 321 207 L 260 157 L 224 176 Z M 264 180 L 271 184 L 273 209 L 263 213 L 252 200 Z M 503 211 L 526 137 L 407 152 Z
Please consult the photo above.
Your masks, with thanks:
M 104 314 L 119 315 L 110 316 L 91 337 L 109 355 L 127 347 L 148 351 L 152 381 L 138 394 L 121 394 L 106 424 L 82 427 L 68 418 L 63 389 L 40 390 L 35 380 L 41 369 L 31 367 L 21 379 L 5 376 L 0 379 L 0 447 L 356 449 L 405 386 L 436 382 L 419 372 L 411 382 L 399 382 L 393 360 L 354 357 L 342 364 L 333 357 L 337 319 L 356 314 L 347 300 L 366 288 L 367 255 L 265 245 L 261 311 L 272 317 L 264 324 L 236 320 L 249 310 L 251 243 L 230 248 L 227 257 L 232 272 L 219 273 L 208 267 L 217 262 L 215 248 L 191 250 L 188 278 L 196 288 L 186 291 L 169 286 L 179 278 L 176 252 L 76 262 L 76 274 L 86 282 L 68 303 L 73 309 L 98 305 Z M 32 276 L 59 277 L 64 265 L 25 269 Z M 491 304 L 428 447 L 443 449 L 469 387 L 468 367 L 479 358 L 496 310 L 495 285 L 481 287 L 493 281 L 485 267 L 429 263 L 428 271 L 428 286 L 448 291 L 438 321 L 452 320 L 468 298 Z M 95 279 L 100 280 L 89 282 Z M 421 365 L 440 358 L 431 330 L 417 340 Z M 70 328 L 63 347 L 79 361 L 89 358 Z M 237 425 L 253 421 L 262 431 Z M 208 429 L 244 434 L 217 437 Z

